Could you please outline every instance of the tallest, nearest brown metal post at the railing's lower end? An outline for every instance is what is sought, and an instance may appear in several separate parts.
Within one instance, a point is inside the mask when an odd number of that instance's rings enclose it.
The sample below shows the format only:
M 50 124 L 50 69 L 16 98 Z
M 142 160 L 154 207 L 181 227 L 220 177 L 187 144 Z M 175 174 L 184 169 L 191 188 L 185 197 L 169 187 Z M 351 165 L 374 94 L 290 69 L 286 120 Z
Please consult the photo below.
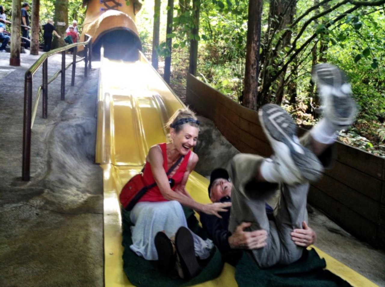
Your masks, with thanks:
M 32 74 L 27 72 L 24 80 L 24 126 L 23 126 L 23 168 L 22 180 L 30 180 L 31 119 L 32 117 Z

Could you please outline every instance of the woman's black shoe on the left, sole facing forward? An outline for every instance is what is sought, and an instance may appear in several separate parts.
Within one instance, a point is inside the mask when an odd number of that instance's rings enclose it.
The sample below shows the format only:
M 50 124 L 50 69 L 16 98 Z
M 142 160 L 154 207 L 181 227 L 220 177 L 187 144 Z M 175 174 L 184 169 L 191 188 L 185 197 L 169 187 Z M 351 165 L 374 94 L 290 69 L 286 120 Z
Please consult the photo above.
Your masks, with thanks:
M 172 242 L 164 232 L 156 233 L 154 242 L 158 252 L 159 270 L 169 273 L 175 266 L 175 253 Z

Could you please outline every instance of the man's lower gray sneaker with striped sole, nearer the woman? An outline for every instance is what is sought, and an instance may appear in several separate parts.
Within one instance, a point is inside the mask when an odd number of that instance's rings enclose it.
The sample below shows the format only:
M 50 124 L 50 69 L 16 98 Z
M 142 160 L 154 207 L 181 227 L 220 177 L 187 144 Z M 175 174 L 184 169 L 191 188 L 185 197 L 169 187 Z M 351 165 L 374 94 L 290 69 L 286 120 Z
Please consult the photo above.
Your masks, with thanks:
M 283 182 L 293 185 L 318 180 L 322 176 L 322 164 L 313 152 L 300 144 L 291 116 L 275 104 L 264 105 L 258 114 Z

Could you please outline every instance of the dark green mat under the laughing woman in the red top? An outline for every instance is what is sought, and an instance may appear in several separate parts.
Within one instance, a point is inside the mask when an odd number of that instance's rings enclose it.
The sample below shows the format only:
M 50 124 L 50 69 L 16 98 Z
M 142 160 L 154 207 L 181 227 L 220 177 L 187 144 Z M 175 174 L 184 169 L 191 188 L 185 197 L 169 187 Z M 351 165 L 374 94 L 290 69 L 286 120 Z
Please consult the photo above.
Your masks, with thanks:
M 198 225 L 198 220 L 194 216 L 194 212 L 189 209 L 185 209 L 187 223 L 189 228 L 200 235 L 202 238 L 206 238 L 204 231 Z M 204 267 L 203 270 L 189 281 L 181 279 L 176 271 L 172 274 L 163 274 L 157 269 L 156 261 L 145 260 L 142 257 L 137 256 L 131 251 L 131 221 L 129 212 L 122 210 L 122 228 L 123 228 L 123 269 L 127 278 L 135 286 L 145 287 L 176 287 L 176 286 L 190 286 L 206 282 L 218 277 L 223 269 L 223 260 L 221 253 L 217 248 L 212 250 L 212 256 L 208 260 L 201 260 L 199 264 Z

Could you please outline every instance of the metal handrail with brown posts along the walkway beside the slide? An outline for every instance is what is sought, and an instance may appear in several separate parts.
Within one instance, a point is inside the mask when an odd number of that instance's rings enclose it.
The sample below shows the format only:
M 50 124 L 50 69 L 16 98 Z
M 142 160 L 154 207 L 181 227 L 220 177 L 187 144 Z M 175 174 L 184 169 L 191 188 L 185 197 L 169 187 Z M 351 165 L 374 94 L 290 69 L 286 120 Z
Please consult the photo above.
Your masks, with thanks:
M 38 101 L 40 94 L 43 94 L 43 112 L 42 117 L 47 118 L 47 107 L 48 107 L 48 84 L 50 84 L 54 79 L 56 79 L 59 74 L 61 77 L 61 86 L 60 86 L 60 99 L 64 101 L 65 99 L 65 70 L 67 70 L 72 65 L 72 77 L 71 77 L 71 86 L 75 85 L 75 69 L 76 63 L 82 60 L 85 61 L 84 67 L 84 77 L 87 77 L 87 70 L 91 69 L 91 55 L 92 55 L 92 37 L 90 35 L 85 35 L 85 42 L 74 43 L 64 47 L 60 47 L 49 52 L 45 52 L 28 70 L 25 72 L 24 78 L 24 122 L 23 122 L 23 164 L 22 164 L 22 180 L 30 180 L 30 159 L 31 159 L 31 131 L 32 124 L 35 120 L 35 115 L 37 111 Z M 84 57 L 76 59 L 77 47 L 84 45 Z M 72 63 L 65 65 L 65 51 L 73 48 L 73 59 Z M 62 67 L 61 70 L 55 72 L 48 80 L 48 58 L 54 54 L 62 53 Z M 87 67 L 88 64 L 88 67 Z M 43 84 L 39 86 L 37 91 L 37 96 L 35 104 L 33 106 L 33 117 L 32 117 L 32 79 L 33 75 L 37 72 L 40 66 L 43 65 Z

